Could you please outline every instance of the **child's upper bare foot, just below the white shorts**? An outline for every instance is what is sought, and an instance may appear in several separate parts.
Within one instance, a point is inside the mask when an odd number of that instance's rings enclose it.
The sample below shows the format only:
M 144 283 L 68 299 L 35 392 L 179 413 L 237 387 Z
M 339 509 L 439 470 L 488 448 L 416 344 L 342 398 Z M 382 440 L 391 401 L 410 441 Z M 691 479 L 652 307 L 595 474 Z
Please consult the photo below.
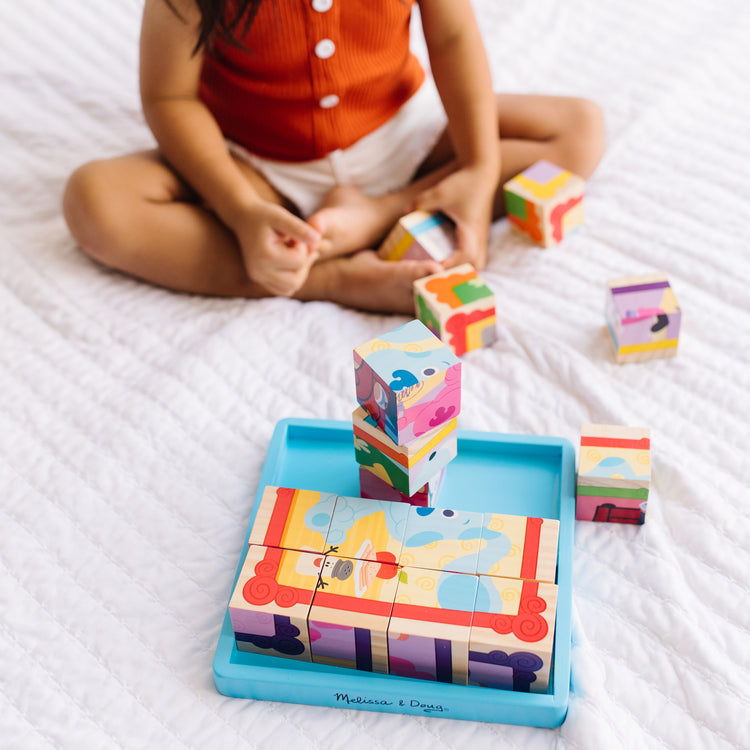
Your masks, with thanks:
M 339 185 L 308 219 L 322 235 L 322 258 L 377 247 L 400 216 L 394 194 L 372 198 L 353 185 Z

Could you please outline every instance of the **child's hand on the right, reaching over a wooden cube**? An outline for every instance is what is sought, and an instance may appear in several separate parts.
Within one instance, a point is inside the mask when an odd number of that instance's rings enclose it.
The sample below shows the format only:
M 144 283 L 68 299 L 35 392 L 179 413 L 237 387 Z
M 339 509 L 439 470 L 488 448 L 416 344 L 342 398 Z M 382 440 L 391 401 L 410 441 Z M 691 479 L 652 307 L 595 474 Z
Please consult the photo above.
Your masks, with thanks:
M 456 250 L 444 261 L 446 268 L 471 263 L 481 270 L 486 265 L 496 188 L 492 176 L 466 167 L 425 190 L 417 199 L 415 208 L 442 211 L 456 225 Z

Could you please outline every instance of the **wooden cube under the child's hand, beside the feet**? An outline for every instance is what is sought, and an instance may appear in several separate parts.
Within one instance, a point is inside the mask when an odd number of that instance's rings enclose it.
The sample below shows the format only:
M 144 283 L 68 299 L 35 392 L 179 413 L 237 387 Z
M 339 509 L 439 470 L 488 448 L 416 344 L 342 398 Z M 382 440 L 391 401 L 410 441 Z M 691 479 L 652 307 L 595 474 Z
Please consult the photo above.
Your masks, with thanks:
M 453 222 L 441 213 L 412 211 L 402 216 L 378 249 L 385 260 L 435 260 L 442 263 L 455 249 Z

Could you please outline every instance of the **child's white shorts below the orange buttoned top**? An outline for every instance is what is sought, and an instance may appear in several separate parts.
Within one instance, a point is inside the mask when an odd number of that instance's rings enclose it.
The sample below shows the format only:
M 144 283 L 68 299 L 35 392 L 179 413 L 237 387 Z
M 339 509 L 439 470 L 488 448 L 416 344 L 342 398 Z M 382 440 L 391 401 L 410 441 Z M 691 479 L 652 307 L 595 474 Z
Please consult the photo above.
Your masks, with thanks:
M 264 159 L 228 141 L 231 154 L 253 166 L 303 218 L 320 207 L 336 185 L 355 185 L 378 196 L 408 185 L 447 125 L 431 78 L 377 130 L 346 149 L 305 162 Z

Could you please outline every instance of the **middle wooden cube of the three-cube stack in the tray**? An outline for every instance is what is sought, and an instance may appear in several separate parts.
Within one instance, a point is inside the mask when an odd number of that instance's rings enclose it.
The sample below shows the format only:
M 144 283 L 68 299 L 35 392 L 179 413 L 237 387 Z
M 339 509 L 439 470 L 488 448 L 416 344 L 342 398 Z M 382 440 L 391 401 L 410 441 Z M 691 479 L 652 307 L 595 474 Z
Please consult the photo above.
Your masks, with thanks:
M 396 445 L 364 407 L 354 411 L 352 422 L 357 463 L 406 497 L 427 485 L 458 452 L 455 418 L 404 445 Z

